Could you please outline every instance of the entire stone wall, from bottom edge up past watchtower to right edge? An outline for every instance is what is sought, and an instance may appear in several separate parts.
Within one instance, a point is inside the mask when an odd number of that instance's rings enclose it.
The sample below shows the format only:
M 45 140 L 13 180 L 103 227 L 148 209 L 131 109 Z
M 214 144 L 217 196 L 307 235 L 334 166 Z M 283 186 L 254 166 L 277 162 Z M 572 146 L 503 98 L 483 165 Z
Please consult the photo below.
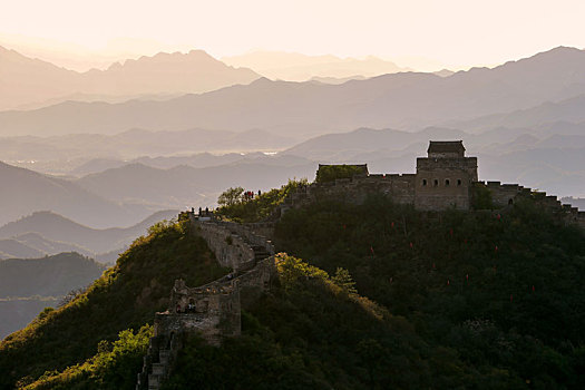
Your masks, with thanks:
M 370 175 L 364 172 L 350 178 L 300 186 L 275 209 L 273 220 L 291 208 L 335 198 L 361 204 L 371 194 L 384 194 L 400 204 L 420 211 L 448 208 L 471 209 L 474 194 L 488 191 L 493 207 L 511 207 L 521 198 L 530 198 L 554 213 L 566 224 L 585 228 L 585 212 L 563 205 L 556 196 L 536 192 L 518 184 L 479 182 L 476 157 L 465 157 L 461 142 L 433 143 L 429 156 L 417 159 L 416 174 Z M 321 168 L 322 166 L 320 166 Z M 223 338 L 241 334 L 241 309 L 254 302 L 271 287 L 276 267 L 271 241 L 274 222 L 237 224 L 217 221 L 195 213 L 182 213 L 195 234 L 205 240 L 216 260 L 232 273 L 212 283 L 188 287 L 175 281 L 168 310 L 155 314 L 154 337 L 138 373 L 136 390 L 155 390 L 170 373 L 184 337 L 198 333 L 208 343 L 218 345 Z

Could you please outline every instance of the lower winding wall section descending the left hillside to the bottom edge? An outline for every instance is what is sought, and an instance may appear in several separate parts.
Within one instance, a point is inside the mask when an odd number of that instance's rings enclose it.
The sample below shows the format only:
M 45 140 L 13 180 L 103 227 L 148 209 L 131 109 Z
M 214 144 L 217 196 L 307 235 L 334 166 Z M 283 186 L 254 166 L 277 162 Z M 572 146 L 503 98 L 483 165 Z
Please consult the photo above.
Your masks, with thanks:
M 241 309 L 271 287 L 275 273 L 274 245 L 262 235 L 272 230 L 272 224 L 241 225 L 199 218 L 194 213 L 182 213 L 182 218 L 188 218 L 217 262 L 232 272 L 196 287 L 188 287 L 183 280 L 175 281 L 168 310 L 155 314 L 154 337 L 136 390 L 160 388 L 185 335 L 198 333 L 213 345 L 218 345 L 223 338 L 238 335 Z

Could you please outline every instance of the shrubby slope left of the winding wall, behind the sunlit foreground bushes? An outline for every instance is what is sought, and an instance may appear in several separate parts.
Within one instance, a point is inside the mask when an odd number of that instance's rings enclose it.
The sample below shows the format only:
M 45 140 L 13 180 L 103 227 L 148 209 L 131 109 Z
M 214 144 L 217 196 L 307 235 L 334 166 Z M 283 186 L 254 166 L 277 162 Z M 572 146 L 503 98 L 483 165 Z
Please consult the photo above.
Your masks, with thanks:
M 92 357 L 101 340 L 152 323 L 166 306 L 177 277 L 188 285 L 209 282 L 225 271 L 205 242 L 185 224 L 157 224 L 138 238 L 84 294 L 66 306 L 46 310 L 0 344 L 0 388 L 28 383 L 48 370 L 64 370 Z

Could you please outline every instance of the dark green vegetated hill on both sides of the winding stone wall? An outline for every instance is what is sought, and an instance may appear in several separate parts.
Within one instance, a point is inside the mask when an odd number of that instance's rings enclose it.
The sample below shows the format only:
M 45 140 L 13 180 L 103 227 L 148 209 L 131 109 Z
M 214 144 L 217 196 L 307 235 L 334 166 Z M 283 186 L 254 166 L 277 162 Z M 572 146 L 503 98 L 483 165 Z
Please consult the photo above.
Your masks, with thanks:
M 12 374 L 2 386 L 56 369 L 29 388 L 134 388 L 148 334 L 137 330 L 165 308 L 174 279 L 195 286 L 221 274 L 185 223 L 150 230 L 86 293 L 4 340 L 0 367 Z M 287 211 L 275 242 L 304 261 L 287 257 L 280 283 L 242 313 L 240 338 L 188 341 L 168 389 L 577 389 L 584 380 L 584 234 L 530 198 L 498 212 L 322 198 Z

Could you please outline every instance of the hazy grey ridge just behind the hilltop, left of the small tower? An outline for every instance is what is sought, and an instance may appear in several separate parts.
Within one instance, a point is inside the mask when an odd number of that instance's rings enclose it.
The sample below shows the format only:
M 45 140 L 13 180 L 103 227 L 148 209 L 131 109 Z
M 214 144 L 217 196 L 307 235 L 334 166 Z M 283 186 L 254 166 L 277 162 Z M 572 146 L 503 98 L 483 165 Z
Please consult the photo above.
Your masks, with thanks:
M 81 187 L 117 202 L 143 202 L 163 207 L 213 206 L 220 193 L 233 186 L 257 191 L 280 187 L 287 178 L 313 178 L 315 164 L 303 158 L 251 158 L 194 168 L 159 169 L 143 164 L 87 175 L 76 181 Z

